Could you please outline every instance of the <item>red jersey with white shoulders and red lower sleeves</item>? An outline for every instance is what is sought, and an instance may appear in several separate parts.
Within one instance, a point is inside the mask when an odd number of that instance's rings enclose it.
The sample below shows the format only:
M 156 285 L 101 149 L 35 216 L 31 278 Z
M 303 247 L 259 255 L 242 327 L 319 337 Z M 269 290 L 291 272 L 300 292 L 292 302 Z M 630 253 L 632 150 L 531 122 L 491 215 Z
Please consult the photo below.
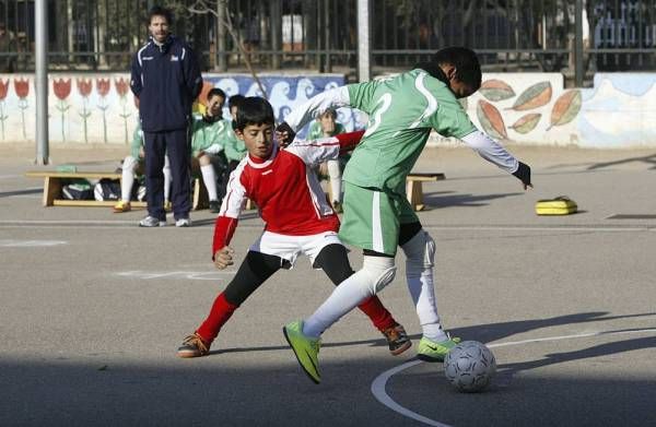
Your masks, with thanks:
M 257 205 L 268 232 L 309 236 L 339 230 L 339 218 L 313 166 L 337 158 L 340 150 L 354 146 L 362 134 L 294 141 L 284 150 L 274 144 L 266 161 L 247 155 L 230 176 L 216 217 L 212 254 L 230 242 L 247 199 Z

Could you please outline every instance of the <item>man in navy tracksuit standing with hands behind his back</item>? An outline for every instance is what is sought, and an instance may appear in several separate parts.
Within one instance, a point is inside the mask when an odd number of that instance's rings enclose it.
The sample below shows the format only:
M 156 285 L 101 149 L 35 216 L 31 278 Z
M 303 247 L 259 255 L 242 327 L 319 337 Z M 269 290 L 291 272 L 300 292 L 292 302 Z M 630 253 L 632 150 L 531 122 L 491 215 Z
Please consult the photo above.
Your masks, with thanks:
M 139 98 L 139 116 L 145 141 L 148 216 L 141 227 L 166 225 L 164 211 L 164 156 L 168 153 L 171 198 L 177 227 L 191 225 L 189 211 L 189 138 L 191 104 L 200 94 L 202 78 L 194 51 L 168 31 L 171 11 L 154 7 L 149 12 L 149 41 L 132 58 L 130 86 Z

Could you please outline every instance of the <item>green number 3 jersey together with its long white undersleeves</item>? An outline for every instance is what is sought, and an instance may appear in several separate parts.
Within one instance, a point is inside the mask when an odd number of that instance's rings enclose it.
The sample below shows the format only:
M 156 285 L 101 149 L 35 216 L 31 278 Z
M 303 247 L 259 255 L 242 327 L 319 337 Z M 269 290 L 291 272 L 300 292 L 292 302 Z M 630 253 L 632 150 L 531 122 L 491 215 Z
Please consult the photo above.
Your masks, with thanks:
M 344 181 L 354 186 L 405 194 L 406 177 L 431 129 L 461 140 L 509 174 L 517 170 L 517 159 L 473 126 L 449 87 L 421 69 L 326 91 L 294 108 L 284 120 L 297 131 L 328 108 L 344 106 L 370 115 L 366 132 L 344 171 Z

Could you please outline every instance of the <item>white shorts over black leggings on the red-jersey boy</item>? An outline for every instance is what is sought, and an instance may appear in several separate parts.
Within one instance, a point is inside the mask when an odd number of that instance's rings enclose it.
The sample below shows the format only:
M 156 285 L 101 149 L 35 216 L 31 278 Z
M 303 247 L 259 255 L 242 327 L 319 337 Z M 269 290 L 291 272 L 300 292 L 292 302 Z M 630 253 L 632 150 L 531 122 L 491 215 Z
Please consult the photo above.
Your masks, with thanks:
M 337 232 L 319 233 L 311 236 L 286 236 L 271 232 L 265 232 L 251 246 L 255 252 L 267 253 L 288 260 L 294 266 L 298 254 L 303 253 L 309 258 L 311 265 L 328 245 L 342 245 Z

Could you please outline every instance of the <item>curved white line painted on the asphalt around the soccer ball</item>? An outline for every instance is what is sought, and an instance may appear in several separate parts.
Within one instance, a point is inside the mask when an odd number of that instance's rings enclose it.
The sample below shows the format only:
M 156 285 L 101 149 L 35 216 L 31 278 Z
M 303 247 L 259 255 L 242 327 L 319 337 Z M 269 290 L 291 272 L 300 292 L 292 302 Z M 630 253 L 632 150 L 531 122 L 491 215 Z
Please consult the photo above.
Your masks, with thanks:
M 487 345 L 490 348 L 495 348 L 495 347 L 506 347 L 506 346 L 511 346 L 511 345 L 539 343 L 539 342 L 544 342 L 544 341 L 560 341 L 560 340 L 572 340 L 572 339 L 581 339 L 581 337 L 588 337 L 588 336 L 636 334 L 636 333 L 648 333 L 648 332 L 656 332 L 656 328 L 636 329 L 636 330 L 629 330 L 629 331 L 584 332 L 584 333 L 578 333 L 578 334 L 573 334 L 573 335 L 547 336 L 547 337 L 542 337 L 542 339 L 512 341 L 512 342 L 507 342 L 507 343 L 496 343 L 496 344 L 487 344 Z M 406 369 L 409 369 L 413 366 L 422 364 L 422 363 L 423 363 L 422 360 L 410 360 L 410 361 L 406 361 L 405 364 L 401 364 L 397 367 L 394 367 L 391 369 L 384 371 L 383 373 L 377 376 L 374 379 L 374 381 L 372 382 L 372 387 L 371 387 L 372 394 L 374 395 L 374 398 L 376 398 L 376 400 L 378 402 L 380 402 L 382 404 L 384 404 L 391 411 L 394 411 L 398 414 L 401 414 L 408 418 L 412 418 L 412 419 L 423 423 L 427 426 L 450 427 L 448 424 L 443 424 L 443 423 L 436 422 L 434 419 L 427 418 L 423 415 L 420 415 L 415 412 L 408 410 L 405 406 L 399 405 L 397 402 L 395 402 L 389 396 L 389 394 L 387 394 L 387 391 L 385 390 L 385 388 L 387 387 L 387 381 L 393 376 L 395 376 Z

